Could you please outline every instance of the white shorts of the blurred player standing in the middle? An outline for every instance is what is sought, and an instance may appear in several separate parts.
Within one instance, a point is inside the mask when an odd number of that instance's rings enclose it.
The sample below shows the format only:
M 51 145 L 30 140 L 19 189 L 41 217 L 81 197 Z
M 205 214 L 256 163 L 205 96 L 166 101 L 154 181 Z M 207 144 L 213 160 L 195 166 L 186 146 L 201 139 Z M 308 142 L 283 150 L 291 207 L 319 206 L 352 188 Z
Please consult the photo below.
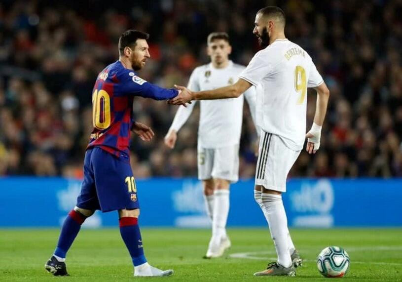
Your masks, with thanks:
M 198 179 L 239 180 L 239 145 L 218 149 L 198 147 Z

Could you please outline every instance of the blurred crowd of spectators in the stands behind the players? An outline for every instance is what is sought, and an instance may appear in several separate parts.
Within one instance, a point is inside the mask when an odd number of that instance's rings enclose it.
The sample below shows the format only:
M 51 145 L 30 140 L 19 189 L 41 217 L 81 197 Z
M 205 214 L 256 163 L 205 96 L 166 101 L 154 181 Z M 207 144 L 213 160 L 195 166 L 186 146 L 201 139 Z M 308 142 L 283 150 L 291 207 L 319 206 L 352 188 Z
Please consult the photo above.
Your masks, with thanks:
M 151 60 L 140 76 L 186 85 L 208 63 L 206 38 L 228 32 L 231 59 L 247 65 L 258 50 L 256 11 L 287 15 L 286 35 L 312 56 L 330 89 L 321 149 L 304 151 L 292 177 L 402 176 L 402 1 L 152 0 L 0 2 L 0 175 L 81 177 L 92 131 L 97 74 L 118 57 L 127 29 L 150 34 Z M 309 90 L 307 127 L 316 94 Z M 136 120 L 155 134 L 133 136 L 134 175 L 197 175 L 198 106 L 171 151 L 163 137 L 177 111 L 136 98 Z M 240 177 L 254 177 L 256 130 L 245 103 Z

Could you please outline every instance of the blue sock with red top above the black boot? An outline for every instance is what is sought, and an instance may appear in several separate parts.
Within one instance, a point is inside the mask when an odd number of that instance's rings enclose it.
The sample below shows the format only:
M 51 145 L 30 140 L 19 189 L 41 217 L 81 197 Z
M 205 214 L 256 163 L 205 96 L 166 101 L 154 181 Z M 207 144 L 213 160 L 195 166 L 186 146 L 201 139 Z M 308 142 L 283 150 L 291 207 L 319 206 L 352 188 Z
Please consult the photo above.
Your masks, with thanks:
M 54 251 L 54 255 L 60 258 L 66 258 L 66 253 L 70 249 L 75 237 L 77 236 L 81 224 L 85 221 L 85 216 L 75 210 L 70 211 L 63 223 L 60 232 L 59 242 Z

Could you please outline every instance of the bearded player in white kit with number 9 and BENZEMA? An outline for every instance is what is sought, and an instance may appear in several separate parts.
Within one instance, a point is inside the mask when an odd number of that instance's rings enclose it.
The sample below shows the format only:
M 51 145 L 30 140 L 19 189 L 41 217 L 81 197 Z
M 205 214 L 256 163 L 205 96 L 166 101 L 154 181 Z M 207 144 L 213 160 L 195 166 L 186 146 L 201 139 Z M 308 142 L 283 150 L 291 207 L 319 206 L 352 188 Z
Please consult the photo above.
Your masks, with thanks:
M 257 92 L 256 118 L 262 130 L 254 195 L 268 222 L 278 260 L 256 276 L 294 276 L 295 267 L 301 264 L 289 234 L 282 193 L 304 139 L 308 138 L 309 154 L 319 149 L 329 99 L 329 89 L 311 57 L 285 37 L 284 29 L 285 14 L 280 8 L 260 9 L 253 33 L 265 48 L 255 54 L 240 79 L 210 91 L 191 92 L 177 86 L 182 93 L 169 101 L 182 105 L 191 100 L 233 98 L 253 85 L 263 87 L 262 94 Z M 308 87 L 317 91 L 317 103 L 313 125 L 305 134 Z

